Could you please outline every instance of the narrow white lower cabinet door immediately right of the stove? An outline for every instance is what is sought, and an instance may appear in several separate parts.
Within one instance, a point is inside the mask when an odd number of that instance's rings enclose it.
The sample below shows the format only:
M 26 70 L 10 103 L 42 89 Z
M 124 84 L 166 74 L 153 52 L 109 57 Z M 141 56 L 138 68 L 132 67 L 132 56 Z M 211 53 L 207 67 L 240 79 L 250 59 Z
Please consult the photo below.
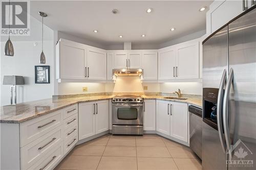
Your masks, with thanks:
M 156 130 L 156 101 L 144 100 L 144 130 Z

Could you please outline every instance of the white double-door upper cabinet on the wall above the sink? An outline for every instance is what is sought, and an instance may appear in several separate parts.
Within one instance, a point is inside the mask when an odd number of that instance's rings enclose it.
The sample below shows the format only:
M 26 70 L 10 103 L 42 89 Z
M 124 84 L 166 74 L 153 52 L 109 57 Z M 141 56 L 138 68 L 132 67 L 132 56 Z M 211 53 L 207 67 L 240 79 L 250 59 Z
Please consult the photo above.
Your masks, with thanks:
M 199 39 L 159 50 L 159 80 L 199 79 Z

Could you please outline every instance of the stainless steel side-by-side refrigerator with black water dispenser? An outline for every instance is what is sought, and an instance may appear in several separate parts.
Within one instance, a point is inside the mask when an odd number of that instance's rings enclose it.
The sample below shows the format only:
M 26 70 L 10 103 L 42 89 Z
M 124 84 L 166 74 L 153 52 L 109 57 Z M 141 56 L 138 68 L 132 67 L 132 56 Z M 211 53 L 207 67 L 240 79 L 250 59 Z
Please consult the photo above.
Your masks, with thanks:
M 203 41 L 202 131 L 204 170 L 256 169 L 255 7 Z

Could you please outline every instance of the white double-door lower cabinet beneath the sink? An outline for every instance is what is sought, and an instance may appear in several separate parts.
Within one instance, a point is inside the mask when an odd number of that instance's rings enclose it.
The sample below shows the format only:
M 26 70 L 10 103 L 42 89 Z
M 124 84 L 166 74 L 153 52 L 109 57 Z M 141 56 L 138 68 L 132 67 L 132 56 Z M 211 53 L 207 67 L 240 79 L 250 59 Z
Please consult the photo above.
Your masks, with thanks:
M 186 103 L 157 101 L 156 130 L 188 142 L 188 110 Z

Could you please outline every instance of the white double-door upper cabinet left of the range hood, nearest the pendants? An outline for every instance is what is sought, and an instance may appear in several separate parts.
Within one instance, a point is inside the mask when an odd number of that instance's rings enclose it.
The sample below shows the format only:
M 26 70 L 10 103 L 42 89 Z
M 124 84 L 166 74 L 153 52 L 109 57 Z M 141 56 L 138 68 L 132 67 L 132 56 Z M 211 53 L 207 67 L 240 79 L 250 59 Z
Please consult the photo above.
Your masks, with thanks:
M 106 80 L 106 51 L 60 39 L 56 45 L 56 78 Z

